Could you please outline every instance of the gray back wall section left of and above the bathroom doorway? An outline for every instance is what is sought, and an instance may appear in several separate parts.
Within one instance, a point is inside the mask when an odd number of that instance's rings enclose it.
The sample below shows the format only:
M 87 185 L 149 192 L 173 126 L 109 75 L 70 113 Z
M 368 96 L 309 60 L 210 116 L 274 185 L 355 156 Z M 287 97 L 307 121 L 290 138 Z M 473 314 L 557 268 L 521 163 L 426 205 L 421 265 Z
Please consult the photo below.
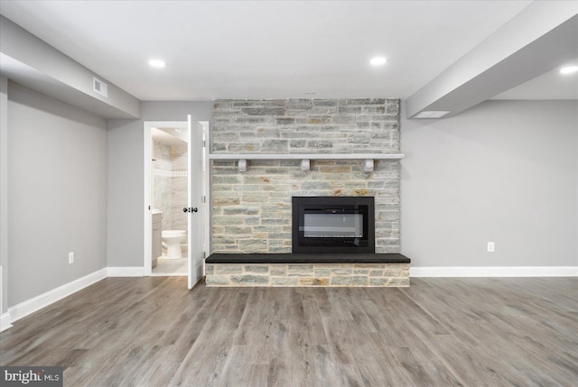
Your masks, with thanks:
M 143 267 L 144 121 L 210 121 L 212 102 L 143 102 L 142 120 L 109 120 L 107 265 Z

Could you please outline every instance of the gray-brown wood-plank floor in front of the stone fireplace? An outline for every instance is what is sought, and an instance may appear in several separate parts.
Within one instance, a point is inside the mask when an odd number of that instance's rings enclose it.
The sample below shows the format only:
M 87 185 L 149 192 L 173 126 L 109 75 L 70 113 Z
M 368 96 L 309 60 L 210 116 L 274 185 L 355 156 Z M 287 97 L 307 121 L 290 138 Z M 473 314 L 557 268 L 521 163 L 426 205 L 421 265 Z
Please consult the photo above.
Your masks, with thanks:
M 109 278 L 14 323 L 2 365 L 65 386 L 576 386 L 578 279 L 206 288 Z

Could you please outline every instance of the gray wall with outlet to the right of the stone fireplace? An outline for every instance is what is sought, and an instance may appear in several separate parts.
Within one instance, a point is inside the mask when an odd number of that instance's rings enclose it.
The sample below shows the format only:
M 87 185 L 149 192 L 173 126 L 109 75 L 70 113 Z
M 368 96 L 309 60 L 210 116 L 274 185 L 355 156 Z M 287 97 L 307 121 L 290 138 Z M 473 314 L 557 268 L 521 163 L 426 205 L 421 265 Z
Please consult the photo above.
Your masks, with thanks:
M 578 265 L 576 112 L 576 101 L 487 101 L 442 120 L 403 112 L 412 266 Z

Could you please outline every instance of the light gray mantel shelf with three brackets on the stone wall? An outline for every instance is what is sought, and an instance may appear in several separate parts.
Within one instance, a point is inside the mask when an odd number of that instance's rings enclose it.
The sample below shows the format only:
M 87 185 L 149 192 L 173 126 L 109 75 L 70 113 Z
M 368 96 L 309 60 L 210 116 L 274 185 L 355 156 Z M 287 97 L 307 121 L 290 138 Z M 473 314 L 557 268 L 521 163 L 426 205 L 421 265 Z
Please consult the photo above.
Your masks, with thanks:
M 311 160 L 363 160 L 363 170 L 373 170 L 374 160 L 400 160 L 404 153 L 210 153 L 210 160 L 238 160 L 239 172 L 247 171 L 247 160 L 301 160 L 301 170 L 310 170 Z

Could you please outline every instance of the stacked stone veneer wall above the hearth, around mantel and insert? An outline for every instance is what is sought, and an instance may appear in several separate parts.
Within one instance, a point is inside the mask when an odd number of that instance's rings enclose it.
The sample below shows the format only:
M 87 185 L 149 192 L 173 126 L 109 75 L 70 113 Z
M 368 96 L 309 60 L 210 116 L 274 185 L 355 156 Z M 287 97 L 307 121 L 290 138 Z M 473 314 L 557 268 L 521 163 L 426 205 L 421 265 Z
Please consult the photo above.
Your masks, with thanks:
M 217 100 L 212 153 L 398 153 L 399 100 Z M 373 196 L 376 253 L 398 253 L 399 161 L 211 161 L 212 253 L 291 253 L 292 196 Z

